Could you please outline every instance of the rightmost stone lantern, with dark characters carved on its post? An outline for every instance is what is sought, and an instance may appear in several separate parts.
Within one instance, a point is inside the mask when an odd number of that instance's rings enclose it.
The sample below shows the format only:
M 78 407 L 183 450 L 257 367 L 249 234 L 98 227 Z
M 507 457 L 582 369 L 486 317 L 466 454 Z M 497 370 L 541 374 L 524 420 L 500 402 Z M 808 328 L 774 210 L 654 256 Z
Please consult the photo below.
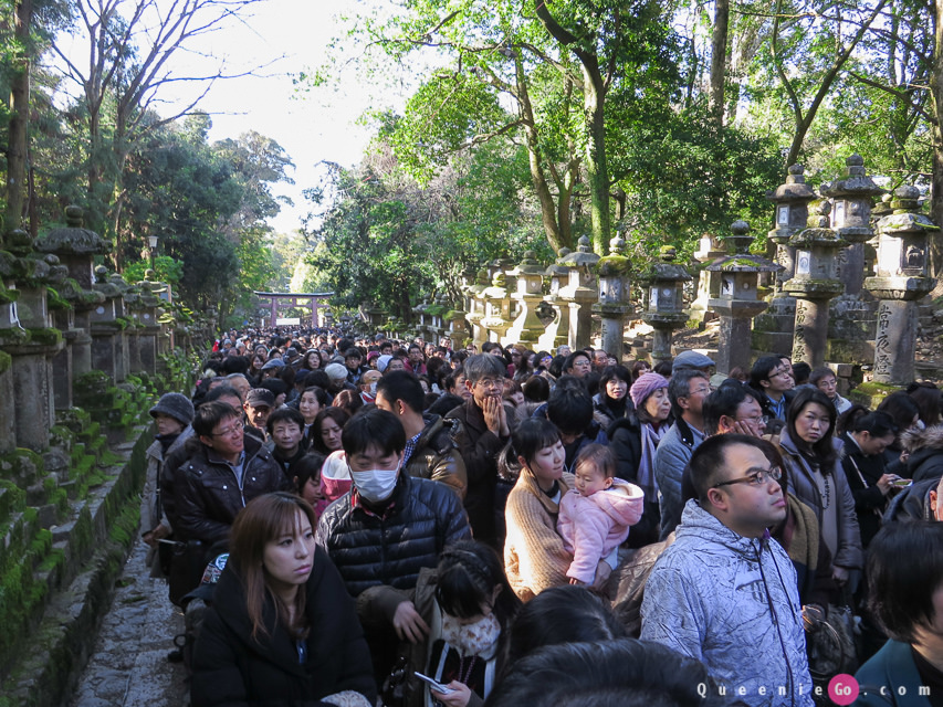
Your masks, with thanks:
M 865 287 L 878 305 L 878 334 L 874 340 L 874 381 L 903 386 L 913 380 L 913 354 L 916 345 L 915 300 L 933 289 L 929 277 L 929 236 L 940 226 L 918 212 L 920 190 L 894 190 L 890 215 L 878 222 L 877 276 Z

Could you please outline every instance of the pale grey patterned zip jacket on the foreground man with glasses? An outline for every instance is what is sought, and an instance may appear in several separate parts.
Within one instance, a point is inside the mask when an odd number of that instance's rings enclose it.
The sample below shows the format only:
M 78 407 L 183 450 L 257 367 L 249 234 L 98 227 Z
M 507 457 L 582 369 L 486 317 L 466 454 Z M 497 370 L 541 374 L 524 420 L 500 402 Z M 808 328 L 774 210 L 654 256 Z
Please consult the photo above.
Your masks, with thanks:
M 641 616 L 642 640 L 702 661 L 737 704 L 813 705 L 796 572 L 775 540 L 744 538 L 689 500 Z

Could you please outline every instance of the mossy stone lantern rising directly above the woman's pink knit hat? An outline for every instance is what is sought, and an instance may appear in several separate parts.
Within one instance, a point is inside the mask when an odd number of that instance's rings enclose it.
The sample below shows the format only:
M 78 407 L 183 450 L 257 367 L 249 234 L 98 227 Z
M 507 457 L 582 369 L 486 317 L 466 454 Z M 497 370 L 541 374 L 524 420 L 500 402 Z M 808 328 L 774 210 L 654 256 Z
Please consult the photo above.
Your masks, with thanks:
M 659 261 L 651 264 L 639 281 L 647 288 L 642 319 L 654 331 L 651 336 L 652 362 L 671 358 L 671 336 L 688 321 L 684 310 L 684 283 L 691 281 L 688 268 L 674 262 L 677 251 L 663 245 Z

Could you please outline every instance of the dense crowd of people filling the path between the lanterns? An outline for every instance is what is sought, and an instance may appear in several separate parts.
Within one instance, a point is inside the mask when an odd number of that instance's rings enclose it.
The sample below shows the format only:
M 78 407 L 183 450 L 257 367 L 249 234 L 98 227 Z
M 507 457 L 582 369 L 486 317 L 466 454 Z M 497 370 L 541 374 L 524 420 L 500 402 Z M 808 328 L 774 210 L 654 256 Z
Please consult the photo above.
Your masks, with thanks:
M 943 705 L 935 386 L 481 349 L 229 331 L 154 405 L 193 707 Z

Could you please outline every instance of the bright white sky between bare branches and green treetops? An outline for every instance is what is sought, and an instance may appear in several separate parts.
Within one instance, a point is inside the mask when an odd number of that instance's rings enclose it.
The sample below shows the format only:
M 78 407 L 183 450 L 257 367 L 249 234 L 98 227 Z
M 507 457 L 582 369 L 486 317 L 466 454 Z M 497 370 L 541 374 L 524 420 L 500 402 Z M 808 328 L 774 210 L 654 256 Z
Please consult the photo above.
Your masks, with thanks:
M 277 232 L 298 228 L 307 212 L 302 190 L 316 182 L 321 160 L 344 166 L 359 161 L 369 137 L 366 128 L 356 125 L 363 112 L 381 104 L 401 105 L 402 99 L 395 94 L 363 85 L 353 70 L 343 89 L 321 88 L 307 95 L 296 93 L 286 75 L 317 67 L 324 61 L 327 43 L 338 33 L 337 13 L 375 4 L 376 0 L 268 0 L 258 6 L 248 27 L 232 27 L 201 42 L 201 51 L 228 56 L 231 70 L 284 55 L 262 70 L 271 77 L 217 82 L 199 106 L 212 116 L 211 140 L 256 130 L 279 143 L 295 163 L 295 184 L 277 190 L 295 203 L 294 208 L 283 205 L 272 221 Z

